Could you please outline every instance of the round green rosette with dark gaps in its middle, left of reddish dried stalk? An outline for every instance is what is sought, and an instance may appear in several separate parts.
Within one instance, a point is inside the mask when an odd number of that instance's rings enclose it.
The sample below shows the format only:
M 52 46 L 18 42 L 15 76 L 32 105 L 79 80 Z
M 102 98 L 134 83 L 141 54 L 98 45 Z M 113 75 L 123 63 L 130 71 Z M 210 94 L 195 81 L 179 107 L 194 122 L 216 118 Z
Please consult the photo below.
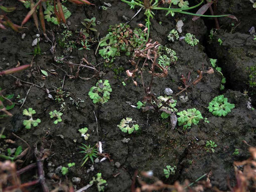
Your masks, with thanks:
M 90 88 L 88 95 L 90 96 L 94 104 L 103 104 L 109 100 L 110 92 L 112 92 L 112 89 L 108 80 L 105 80 L 104 83 L 102 82 L 102 80 L 99 80 L 96 83 L 96 86 Z

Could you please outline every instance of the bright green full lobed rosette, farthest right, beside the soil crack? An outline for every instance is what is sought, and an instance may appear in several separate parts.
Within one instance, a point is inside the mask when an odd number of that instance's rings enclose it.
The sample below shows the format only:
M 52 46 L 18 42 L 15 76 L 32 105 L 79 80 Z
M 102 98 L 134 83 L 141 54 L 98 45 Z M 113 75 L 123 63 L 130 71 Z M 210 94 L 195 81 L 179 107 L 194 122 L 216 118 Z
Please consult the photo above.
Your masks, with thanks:
M 224 98 L 224 95 L 219 95 L 214 97 L 214 99 L 209 103 L 208 109 L 214 116 L 221 117 L 226 116 L 234 107 L 234 104 L 227 102 L 227 98 Z

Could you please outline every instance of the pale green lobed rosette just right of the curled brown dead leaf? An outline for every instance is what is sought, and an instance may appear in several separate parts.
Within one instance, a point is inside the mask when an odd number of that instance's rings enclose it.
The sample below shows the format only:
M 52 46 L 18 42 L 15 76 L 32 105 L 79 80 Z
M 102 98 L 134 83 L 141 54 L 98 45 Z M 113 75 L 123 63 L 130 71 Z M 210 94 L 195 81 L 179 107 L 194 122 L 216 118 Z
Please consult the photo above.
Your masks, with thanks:
M 202 114 L 196 108 L 188 109 L 187 111 L 183 110 L 178 112 L 177 115 L 180 117 L 178 118 L 178 124 L 183 125 L 183 129 L 191 128 L 192 124 L 197 125 L 200 119 L 203 119 Z

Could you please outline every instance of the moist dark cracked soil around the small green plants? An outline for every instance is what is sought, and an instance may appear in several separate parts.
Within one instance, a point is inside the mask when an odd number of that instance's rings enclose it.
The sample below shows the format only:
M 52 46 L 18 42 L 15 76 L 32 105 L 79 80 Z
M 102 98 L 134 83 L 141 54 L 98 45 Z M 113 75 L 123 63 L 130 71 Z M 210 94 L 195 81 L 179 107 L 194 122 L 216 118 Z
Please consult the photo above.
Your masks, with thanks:
M 81 21 L 85 18 L 96 17 L 99 21 L 96 29 L 99 32 L 99 39 L 107 34 L 110 25 L 125 23 L 137 13 L 137 9 L 131 10 L 129 6 L 120 1 L 107 1 L 111 7 L 102 10 L 103 1 L 96 1 L 96 6 L 76 6 L 66 3 L 71 17 L 68 19 L 69 30 L 72 31 L 74 39 L 77 31 L 82 28 Z M 14 23 L 20 23 L 28 12 L 18 1 L 10 1 L 6 6 L 16 6 L 17 10 L 10 15 Z M 240 7 L 242 5 L 242 7 Z M 152 93 L 157 96 L 164 95 L 165 88 L 169 87 L 174 91 L 174 95 L 182 86 L 181 75 L 187 76 L 191 71 L 191 79 L 197 77 L 197 70 L 208 70 L 211 67 L 209 58 L 217 59 L 218 67 L 222 68 L 222 73 L 226 77 L 225 89 L 220 91 L 221 75 L 215 71 L 213 74 L 204 74 L 202 80 L 195 86 L 190 87 L 177 97 L 176 108 L 178 111 L 196 108 L 206 117 L 209 123 L 201 120 L 197 125 L 192 125 L 190 129 L 183 130 L 182 126 L 176 126 L 173 130 L 170 119 L 162 119 L 159 112 L 147 111 L 131 107 L 138 101 L 142 101 L 144 89 L 140 77 L 133 81 L 122 81 L 126 78 L 125 71 L 133 69 L 129 63 L 131 57 L 121 55 L 117 57 L 112 65 L 104 64 L 104 60 L 97 53 L 98 43 L 91 45 L 90 50 L 73 49 L 71 53 L 63 53 L 63 49 L 56 46 L 56 56 L 64 55 L 65 61 L 79 64 L 84 57 L 99 71 L 89 68 L 80 68 L 79 76 L 82 78 L 69 78 L 68 75 L 76 75 L 77 67 L 71 67 L 66 63 L 56 63 L 50 51 L 52 44 L 41 35 L 40 47 L 42 55 L 37 55 L 33 59 L 34 48 L 31 46 L 33 36 L 38 33 L 33 21 L 26 24 L 28 29 L 24 29 L 26 34 L 24 39 L 21 34 L 11 29 L 0 31 L 0 67 L 1 70 L 13 68 L 18 61 L 21 65 L 33 63 L 33 67 L 23 72 L 15 73 L 19 78 L 21 86 L 17 86 L 17 79 L 13 76 L 2 76 L 0 87 L 5 89 L 5 94 L 14 94 L 16 102 L 14 109 L 10 110 L 12 117 L 0 119 L 1 128 L 5 128 L 6 139 L 16 141 L 15 144 L 6 143 L 1 139 L 1 153 L 6 153 L 7 148 L 17 148 L 19 145 L 26 148 L 26 144 L 15 137 L 12 132 L 27 141 L 32 147 L 24 162 L 17 162 L 17 167 L 22 168 L 28 164 L 36 162 L 33 149 L 36 143 L 41 143 L 44 148 L 51 151 L 51 155 L 44 162 L 44 171 L 47 184 L 54 188 L 59 180 L 50 178 L 50 173 L 56 173 L 61 180 L 71 181 L 73 177 L 81 178 L 79 183 L 73 183 L 79 189 L 92 180 L 97 172 L 102 173 L 102 178 L 107 181 L 105 191 L 130 191 L 132 177 L 136 170 L 152 170 L 154 175 L 165 183 L 172 184 L 185 179 L 195 181 L 205 173 L 212 171 L 210 176 L 213 186 L 220 190 L 228 190 L 227 178 L 230 185 L 235 183 L 233 161 L 247 159 L 248 146 L 242 142 L 245 140 L 252 146 L 256 146 L 256 111 L 247 108 L 247 102 L 256 104 L 255 88 L 248 85 L 249 71 L 247 67 L 256 64 L 256 41 L 253 40 L 248 30 L 255 25 L 255 9 L 249 1 L 220 1 L 217 11 L 220 14 L 233 14 L 238 18 L 238 22 L 230 18 L 219 20 L 221 29 L 216 32 L 210 41 L 209 31 L 215 28 L 211 19 L 198 19 L 192 21 L 192 17 L 176 14 L 175 17 L 165 17 L 164 12 L 156 12 L 152 20 L 150 38 L 158 41 L 161 45 L 173 49 L 177 53 L 178 61 L 170 67 L 166 78 L 156 77 L 153 81 Z M 246 12 L 245 12 L 246 11 Z M 184 27 L 180 36 L 186 33 L 194 34 L 199 39 L 197 46 L 189 46 L 184 40 L 170 42 L 167 35 L 175 28 L 176 22 L 183 20 Z M 162 22 L 160 25 L 159 22 Z M 138 23 L 145 23 L 143 11 L 138 14 L 130 23 L 131 28 L 136 28 Z M 233 23 L 234 25 L 231 25 Z M 255 26 L 256 27 L 256 26 Z M 47 23 L 47 35 L 49 39 L 60 38 L 60 34 L 66 30 L 62 25 L 55 26 Z M 40 33 L 42 34 L 42 33 Z M 96 38 L 96 34 L 95 34 Z M 223 41 L 219 45 L 218 39 Z M 32 61 L 33 60 L 33 61 Z M 54 70 L 56 74 L 47 71 L 49 76 L 43 78 L 40 69 Z M 53 71 L 51 71 L 53 72 Z M 99 80 L 108 80 L 112 92 L 108 102 L 104 104 L 93 104 L 88 96 L 89 89 L 95 86 Z M 33 83 L 25 83 L 25 82 Z M 145 82 L 150 81 L 150 74 L 145 72 Z M 37 85 L 37 86 L 35 86 Z M 55 98 L 57 88 L 63 86 L 64 101 L 51 100 L 46 91 Z M 244 91 L 247 94 L 244 94 Z M 235 108 L 225 117 L 213 116 L 207 109 L 209 102 L 218 95 L 223 94 L 228 98 L 228 102 L 235 104 Z M 17 96 L 26 98 L 23 106 L 18 104 Z M 187 97 L 184 101 L 180 96 Z M 22 114 L 24 109 L 33 108 L 34 115 L 41 119 L 37 127 L 25 129 L 23 120 L 26 116 Z M 255 105 L 254 105 L 255 108 Z M 61 110 L 63 113 L 62 122 L 53 123 L 49 112 Z M 136 120 L 140 130 L 132 134 L 123 133 L 117 127 L 121 119 L 131 117 Z M 87 127 L 90 134 L 88 140 L 81 137 L 78 129 Z M 124 138 L 129 138 L 129 142 L 123 142 Z M 215 152 L 207 152 L 206 141 L 212 140 L 217 144 Z M 80 166 L 84 153 L 81 151 L 81 143 L 94 146 L 98 141 L 102 143 L 104 153 L 110 155 L 110 159 L 102 162 L 92 163 L 88 160 L 84 166 Z M 232 153 L 239 149 L 238 155 Z M 99 160 L 102 157 L 99 156 Z M 1 159 L 4 160 L 4 159 Z M 69 162 L 75 162 L 75 166 L 69 168 L 66 176 L 63 176 L 57 167 L 67 166 Z M 116 162 L 120 163 L 118 166 Z M 165 178 L 163 169 L 166 165 L 177 166 L 174 175 Z M 92 168 L 93 167 L 93 168 Z M 91 169 L 91 170 L 90 170 Z M 116 176 L 117 175 L 117 176 Z M 140 174 L 139 174 L 140 175 Z M 21 176 L 26 182 L 37 177 L 36 169 Z M 203 179 L 205 179 L 204 177 Z M 138 183 L 136 183 L 138 184 Z M 41 186 L 28 188 L 30 191 L 42 191 Z M 86 191 L 97 191 L 96 185 L 91 186 Z

